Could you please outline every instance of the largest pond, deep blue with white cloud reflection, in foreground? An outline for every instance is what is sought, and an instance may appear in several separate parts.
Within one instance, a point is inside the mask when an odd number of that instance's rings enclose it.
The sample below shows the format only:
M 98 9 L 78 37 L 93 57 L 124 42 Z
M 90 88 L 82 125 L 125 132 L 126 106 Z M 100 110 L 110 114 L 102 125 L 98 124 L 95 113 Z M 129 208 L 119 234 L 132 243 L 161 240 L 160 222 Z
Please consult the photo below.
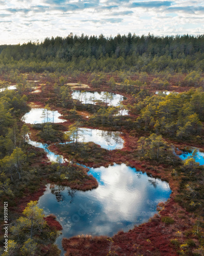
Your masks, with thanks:
M 80 191 L 48 184 L 39 199 L 44 214 L 54 214 L 63 227 L 56 241 L 60 249 L 62 238 L 81 234 L 111 237 L 148 221 L 157 212 L 157 204 L 171 193 L 167 182 L 124 163 L 90 168 L 89 174 L 99 183 L 96 189 Z

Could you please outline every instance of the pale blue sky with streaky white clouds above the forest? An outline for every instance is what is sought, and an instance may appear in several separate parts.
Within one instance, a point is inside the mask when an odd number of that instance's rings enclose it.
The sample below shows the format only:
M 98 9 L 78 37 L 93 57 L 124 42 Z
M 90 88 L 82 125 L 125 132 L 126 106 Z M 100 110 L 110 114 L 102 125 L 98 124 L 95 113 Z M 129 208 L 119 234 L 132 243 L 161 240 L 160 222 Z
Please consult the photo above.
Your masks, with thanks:
M 204 34 L 200 0 L 0 0 L 0 45 L 45 37 L 118 33 Z

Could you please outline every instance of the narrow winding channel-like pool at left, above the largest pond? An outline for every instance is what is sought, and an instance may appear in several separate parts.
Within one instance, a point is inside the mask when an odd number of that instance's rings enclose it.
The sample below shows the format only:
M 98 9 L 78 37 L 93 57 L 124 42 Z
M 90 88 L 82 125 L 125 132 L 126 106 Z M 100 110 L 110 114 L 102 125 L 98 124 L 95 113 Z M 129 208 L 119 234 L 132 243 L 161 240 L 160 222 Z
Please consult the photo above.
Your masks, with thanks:
M 64 159 L 63 156 L 56 155 L 52 151 L 48 150 L 47 147 L 49 145 L 46 144 L 46 143 L 41 143 L 41 142 L 37 142 L 37 141 L 31 140 L 29 135 L 27 135 L 26 142 L 29 143 L 32 146 L 43 148 L 43 150 L 46 152 L 47 158 L 49 159 L 50 162 L 58 162 L 58 158 L 59 157 L 61 158 L 61 162 L 62 163 L 67 162 L 67 160 Z

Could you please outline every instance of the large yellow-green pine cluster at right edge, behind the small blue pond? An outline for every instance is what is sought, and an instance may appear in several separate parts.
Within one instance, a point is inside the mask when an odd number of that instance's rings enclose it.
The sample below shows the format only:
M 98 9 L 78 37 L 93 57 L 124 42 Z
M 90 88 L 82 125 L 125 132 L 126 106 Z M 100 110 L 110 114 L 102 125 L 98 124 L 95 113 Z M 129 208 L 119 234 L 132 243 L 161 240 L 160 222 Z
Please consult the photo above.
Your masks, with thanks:
M 201 88 L 167 96 L 147 96 L 142 103 L 134 106 L 140 110 L 137 127 L 143 127 L 145 131 L 153 129 L 156 133 L 179 139 L 199 136 L 202 131 L 203 99 Z

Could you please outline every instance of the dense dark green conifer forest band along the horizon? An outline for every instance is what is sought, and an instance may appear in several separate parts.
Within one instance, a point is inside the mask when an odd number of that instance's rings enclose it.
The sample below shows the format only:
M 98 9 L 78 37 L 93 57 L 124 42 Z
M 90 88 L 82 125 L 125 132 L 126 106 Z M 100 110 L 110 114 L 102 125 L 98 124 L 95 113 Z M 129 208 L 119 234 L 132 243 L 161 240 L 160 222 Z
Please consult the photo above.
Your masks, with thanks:
M 39 44 L 0 46 L 0 71 L 203 71 L 204 35 L 148 34 L 106 38 L 73 36 L 45 38 Z

